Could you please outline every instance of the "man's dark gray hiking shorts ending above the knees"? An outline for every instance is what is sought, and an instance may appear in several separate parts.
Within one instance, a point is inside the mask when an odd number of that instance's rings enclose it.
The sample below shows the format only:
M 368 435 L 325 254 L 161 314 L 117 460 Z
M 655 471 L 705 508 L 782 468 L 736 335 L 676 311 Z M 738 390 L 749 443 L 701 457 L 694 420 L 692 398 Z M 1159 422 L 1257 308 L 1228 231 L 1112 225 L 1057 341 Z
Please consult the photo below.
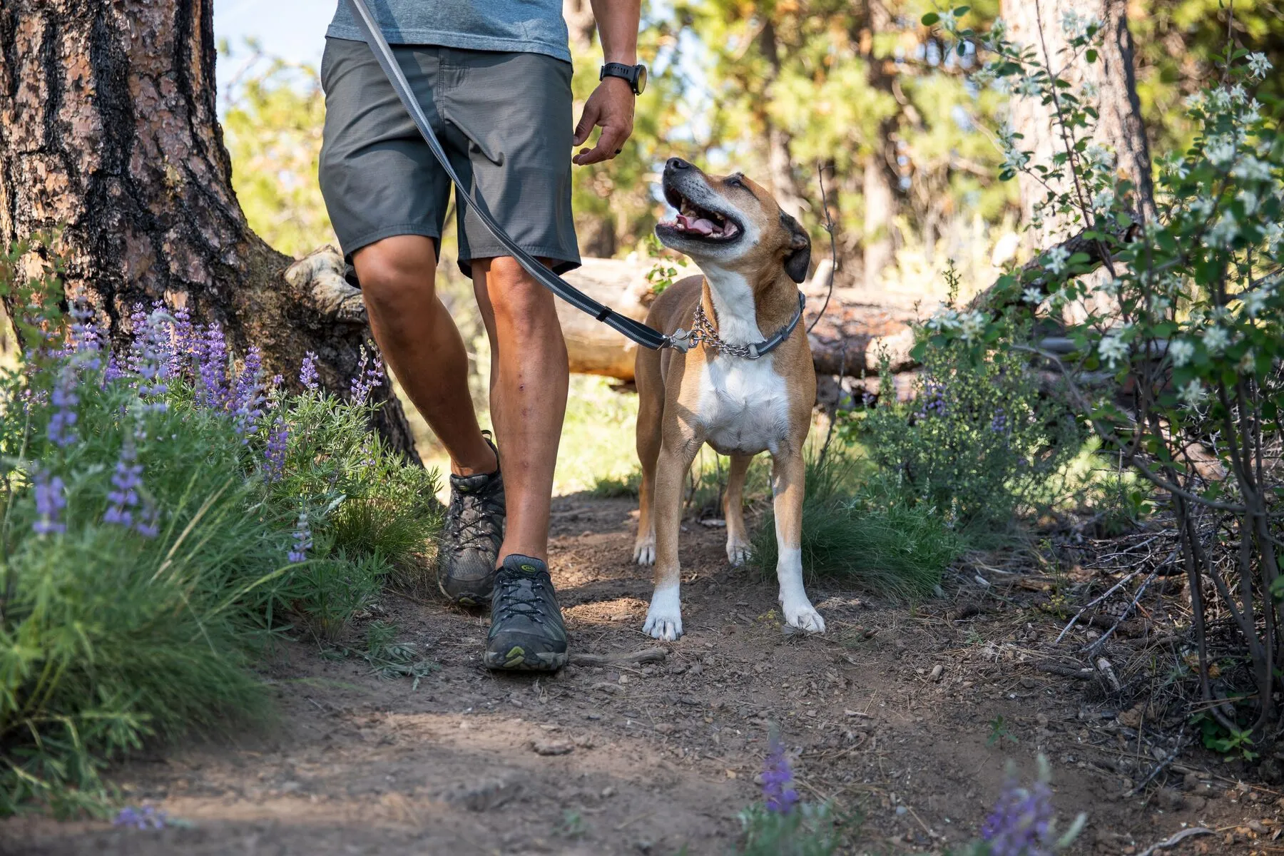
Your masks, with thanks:
M 451 166 L 519 246 L 579 267 L 570 210 L 570 63 L 544 54 L 394 45 Z M 442 252 L 451 180 L 361 41 L 326 39 L 321 194 L 352 254 L 393 235 L 424 235 Z M 457 194 L 458 196 L 458 194 Z M 508 255 L 456 199 L 460 270 Z

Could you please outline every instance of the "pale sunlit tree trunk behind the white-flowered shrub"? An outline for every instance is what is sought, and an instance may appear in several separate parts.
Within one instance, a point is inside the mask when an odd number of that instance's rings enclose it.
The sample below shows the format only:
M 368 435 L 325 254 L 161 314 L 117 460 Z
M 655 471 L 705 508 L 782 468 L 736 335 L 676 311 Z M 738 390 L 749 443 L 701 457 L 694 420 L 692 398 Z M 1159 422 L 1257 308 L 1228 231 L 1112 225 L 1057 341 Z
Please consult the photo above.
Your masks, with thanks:
M 1070 55 L 1063 53 L 1067 39 L 1062 30 L 1062 15 L 1066 12 L 1095 17 L 1103 22 L 1103 44 L 1097 63 L 1088 63 L 1082 55 L 1071 63 Z M 1154 219 L 1150 149 L 1136 95 L 1126 0 L 1003 0 L 1002 14 L 1008 22 L 1012 41 L 1032 46 L 1041 62 L 1050 63 L 1054 73 L 1076 89 L 1085 81 L 1097 82 L 1100 118 L 1094 140 L 1115 150 L 1117 166 L 1134 184 L 1135 199 L 1130 200 L 1131 207 L 1143 218 Z M 1032 96 L 1013 96 L 1012 116 L 1013 128 L 1025 135 L 1019 141 L 1021 148 L 1034 153 L 1034 163 L 1050 163 L 1054 153 L 1064 151 L 1053 105 L 1040 104 Z M 1046 189 L 1025 173 L 1021 173 L 1018 181 L 1022 212 L 1026 222 L 1032 222 L 1035 205 L 1044 199 Z M 1045 216 L 1044 227 L 1032 239 L 1036 246 L 1048 245 L 1063 237 L 1070 228 L 1072 225 L 1068 221 Z

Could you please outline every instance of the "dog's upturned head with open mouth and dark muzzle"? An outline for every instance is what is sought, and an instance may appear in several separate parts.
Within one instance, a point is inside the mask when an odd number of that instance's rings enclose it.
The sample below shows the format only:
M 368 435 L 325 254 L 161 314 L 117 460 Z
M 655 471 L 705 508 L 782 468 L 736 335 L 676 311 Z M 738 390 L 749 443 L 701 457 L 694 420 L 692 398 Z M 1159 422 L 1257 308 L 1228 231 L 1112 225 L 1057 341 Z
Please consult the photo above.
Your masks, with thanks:
M 806 278 L 811 239 L 769 193 L 740 173 L 710 176 L 681 158 L 664 164 L 664 198 L 678 216 L 655 227 L 665 246 L 697 264 L 752 273 L 783 267 Z

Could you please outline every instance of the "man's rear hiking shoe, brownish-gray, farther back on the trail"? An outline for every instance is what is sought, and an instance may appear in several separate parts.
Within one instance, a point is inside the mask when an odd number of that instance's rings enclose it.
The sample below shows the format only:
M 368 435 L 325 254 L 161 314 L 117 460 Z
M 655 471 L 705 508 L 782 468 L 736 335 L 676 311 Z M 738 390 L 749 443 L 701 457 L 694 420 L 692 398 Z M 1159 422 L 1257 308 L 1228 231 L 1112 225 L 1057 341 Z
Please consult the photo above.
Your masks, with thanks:
M 487 443 L 494 448 L 489 436 Z M 451 506 L 442 531 L 437 566 L 442 594 L 460 606 L 485 603 L 503 542 L 503 474 L 499 470 L 473 476 L 451 474 Z

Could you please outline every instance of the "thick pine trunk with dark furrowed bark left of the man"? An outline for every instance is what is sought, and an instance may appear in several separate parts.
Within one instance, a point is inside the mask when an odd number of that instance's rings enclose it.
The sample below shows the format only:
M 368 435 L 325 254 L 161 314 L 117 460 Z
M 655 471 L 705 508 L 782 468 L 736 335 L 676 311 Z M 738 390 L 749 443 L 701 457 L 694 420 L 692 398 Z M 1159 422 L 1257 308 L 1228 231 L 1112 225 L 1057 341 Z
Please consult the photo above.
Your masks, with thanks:
M 130 311 L 163 300 L 218 322 L 297 384 L 308 350 L 344 393 L 367 341 L 360 294 L 284 276 L 249 228 L 216 114 L 213 0 L 0 4 L 0 245 L 62 228 L 68 299 L 121 344 Z M 48 252 L 48 250 L 46 250 Z M 10 307 L 12 308 L 12 307 Z M 390 386 L 376 427 L 417 461 Z

